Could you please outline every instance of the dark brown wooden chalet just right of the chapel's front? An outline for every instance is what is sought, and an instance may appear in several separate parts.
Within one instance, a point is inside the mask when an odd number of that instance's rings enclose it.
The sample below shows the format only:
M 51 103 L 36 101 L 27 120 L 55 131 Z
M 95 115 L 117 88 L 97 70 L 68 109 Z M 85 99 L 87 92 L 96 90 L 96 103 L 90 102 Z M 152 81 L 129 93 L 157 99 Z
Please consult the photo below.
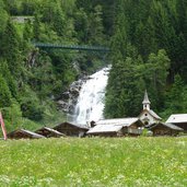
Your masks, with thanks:
M 153 132 L 153 136 L 177 136 L 179 132 L 184 131 L 184 129 L 173 125 L 173 124 L 164 124 L 157 122 L 152 124 L 145 127 L 147 129 Z

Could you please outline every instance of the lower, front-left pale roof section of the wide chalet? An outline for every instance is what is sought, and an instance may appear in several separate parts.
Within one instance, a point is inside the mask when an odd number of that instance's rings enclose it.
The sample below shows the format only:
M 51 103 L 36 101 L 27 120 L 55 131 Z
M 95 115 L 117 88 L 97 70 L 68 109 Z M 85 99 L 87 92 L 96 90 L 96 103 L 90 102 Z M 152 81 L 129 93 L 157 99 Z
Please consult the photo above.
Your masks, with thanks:
M 122 128 L 122 126 L 116 125 L 97 125 L 91 128 L 86 133 L 105 133 L 105 132 L 117 132 Z

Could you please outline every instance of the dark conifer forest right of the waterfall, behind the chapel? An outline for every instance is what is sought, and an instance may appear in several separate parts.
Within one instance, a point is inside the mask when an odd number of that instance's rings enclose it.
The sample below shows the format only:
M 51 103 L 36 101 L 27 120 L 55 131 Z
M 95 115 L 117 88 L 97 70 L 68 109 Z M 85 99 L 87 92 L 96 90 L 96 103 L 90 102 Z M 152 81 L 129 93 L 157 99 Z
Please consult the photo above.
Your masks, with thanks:
M 145 89 L 164 117 L 185 113 L 187 1 L 118 0 L 115 10 L 106 117 L 137 116 Z

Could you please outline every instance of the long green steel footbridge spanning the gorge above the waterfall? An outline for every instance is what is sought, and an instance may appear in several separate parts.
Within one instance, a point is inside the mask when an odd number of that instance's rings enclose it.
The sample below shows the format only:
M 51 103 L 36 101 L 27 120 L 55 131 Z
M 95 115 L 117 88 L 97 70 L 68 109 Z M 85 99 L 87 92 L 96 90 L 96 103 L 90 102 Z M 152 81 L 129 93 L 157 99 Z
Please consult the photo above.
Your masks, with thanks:
M 44 44 L 44 43 L 33 43 L 35 47 L 38 48 L 54 48 L 54 49 L 68 49 L 68 50 L 84 50 L 84 51 L 100 51 L 109 52 L 108 47 L 102 46 L 77 46 L 77 45 L 61 45 L 61 44 Z

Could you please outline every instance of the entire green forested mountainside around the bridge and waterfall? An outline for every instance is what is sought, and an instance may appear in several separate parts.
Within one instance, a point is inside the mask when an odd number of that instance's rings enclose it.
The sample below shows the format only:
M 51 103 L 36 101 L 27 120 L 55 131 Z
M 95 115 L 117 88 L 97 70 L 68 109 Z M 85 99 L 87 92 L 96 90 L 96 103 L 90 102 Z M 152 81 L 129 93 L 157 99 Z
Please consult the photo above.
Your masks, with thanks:
M 139 115 L 144 90 L 163 118 L 186 113 L 187 1 L 0 0 L 0 110 L 8 131 L 66 119 L 56 104 L 61 93 L 107 65 L 106 118 Z

